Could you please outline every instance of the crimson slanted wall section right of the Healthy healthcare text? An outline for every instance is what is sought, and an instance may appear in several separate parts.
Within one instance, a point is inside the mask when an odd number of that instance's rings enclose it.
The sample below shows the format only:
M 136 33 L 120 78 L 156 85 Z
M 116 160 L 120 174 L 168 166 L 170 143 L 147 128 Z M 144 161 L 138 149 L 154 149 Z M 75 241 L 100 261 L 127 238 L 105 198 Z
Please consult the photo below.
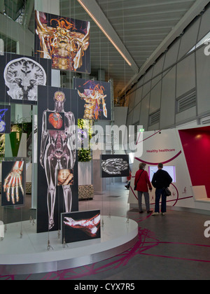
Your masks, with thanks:
M 206 186 L 210 198 L 210 127 L 179 130 L 193 186 Z

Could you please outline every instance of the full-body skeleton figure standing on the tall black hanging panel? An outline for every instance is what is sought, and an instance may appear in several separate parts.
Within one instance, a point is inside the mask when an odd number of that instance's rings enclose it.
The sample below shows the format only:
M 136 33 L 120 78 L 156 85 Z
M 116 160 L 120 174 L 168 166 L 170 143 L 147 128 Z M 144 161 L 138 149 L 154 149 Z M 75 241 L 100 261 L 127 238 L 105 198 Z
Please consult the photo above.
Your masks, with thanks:
M 54 94 L 55 110 L 52 113 L 64 113 L 64 130 L 46 130 L 48 110 L 43 111 L 40 163 L 48 182 L 48 218 L 49 230 L 54 225 L 54 211 L 57 186 L 57 170 L 73 169 L 76 161 L 75 118 L 71 111 L 64 111 L 66 101 L 64 92 Z M 62 186 L 66 212 L 71 212 L 71 186 Z

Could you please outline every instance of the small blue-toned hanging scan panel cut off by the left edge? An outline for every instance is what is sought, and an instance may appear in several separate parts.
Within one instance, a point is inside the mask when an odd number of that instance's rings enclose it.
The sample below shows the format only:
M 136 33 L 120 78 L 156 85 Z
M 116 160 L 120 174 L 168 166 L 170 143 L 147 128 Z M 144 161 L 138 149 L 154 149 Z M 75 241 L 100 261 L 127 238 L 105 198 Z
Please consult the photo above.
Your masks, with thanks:
M 0 133 L 9 134 L 11 130 L 11 107 L 0 105 Z

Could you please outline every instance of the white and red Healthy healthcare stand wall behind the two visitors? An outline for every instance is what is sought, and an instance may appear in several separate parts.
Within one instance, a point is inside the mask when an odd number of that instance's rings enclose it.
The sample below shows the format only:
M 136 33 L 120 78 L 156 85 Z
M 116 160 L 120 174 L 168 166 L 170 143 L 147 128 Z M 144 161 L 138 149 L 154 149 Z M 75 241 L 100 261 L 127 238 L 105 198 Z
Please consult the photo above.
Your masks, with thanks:
M 158 163 L 162 162 L 172 176 L 170 185 L 172 196 L 167 198 L 171 209 L 210 211 L 209 148 L 210 126 L 197 126 L 185 129 L 144 132 L 141 156 L 134 156 L 132 181 L 129 195 L 130 207 L 137 207 L 137 192 L 134 191 L 134 175 L 139 163 L 146 163 L 146 170 L 152 181 Z M 155 203 L 155 189 L 150 192 L 150 202 Z

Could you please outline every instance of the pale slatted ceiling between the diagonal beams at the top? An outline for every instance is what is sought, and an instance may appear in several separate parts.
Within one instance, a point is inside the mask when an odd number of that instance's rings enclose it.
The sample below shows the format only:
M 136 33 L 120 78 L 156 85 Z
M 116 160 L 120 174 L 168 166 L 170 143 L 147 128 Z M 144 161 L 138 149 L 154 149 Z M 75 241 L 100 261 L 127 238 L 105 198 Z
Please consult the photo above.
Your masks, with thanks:
M 90 21 L 91 76 L 104 70 L 113 79 L 114 98 L 122 97 L 162 52 L 209 3 L 208 0 L 83 0 L 120 44 L 124 61 L 77 0 L 59 0 L 60 15 Z M 33 16 L 31 18 L 34 27 Z M 30 25 L 29 25 L 30 27 Z

